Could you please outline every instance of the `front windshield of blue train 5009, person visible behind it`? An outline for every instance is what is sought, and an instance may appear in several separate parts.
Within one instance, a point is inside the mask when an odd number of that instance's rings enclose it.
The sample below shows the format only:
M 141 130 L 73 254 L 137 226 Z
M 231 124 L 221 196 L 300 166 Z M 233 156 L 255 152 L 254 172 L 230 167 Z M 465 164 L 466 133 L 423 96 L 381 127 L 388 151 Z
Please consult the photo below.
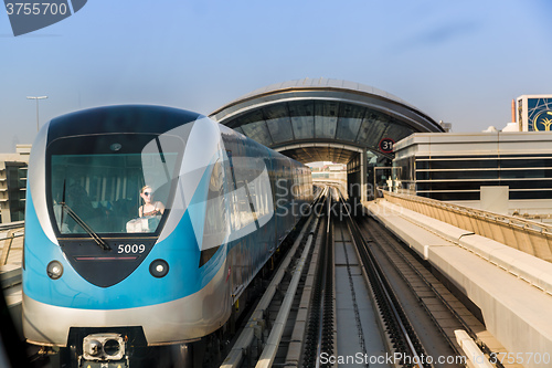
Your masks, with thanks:
M 155 233 L 184 143 L 176 136 L 70 137 L 49 147 L 51 218 L 61 235 Z

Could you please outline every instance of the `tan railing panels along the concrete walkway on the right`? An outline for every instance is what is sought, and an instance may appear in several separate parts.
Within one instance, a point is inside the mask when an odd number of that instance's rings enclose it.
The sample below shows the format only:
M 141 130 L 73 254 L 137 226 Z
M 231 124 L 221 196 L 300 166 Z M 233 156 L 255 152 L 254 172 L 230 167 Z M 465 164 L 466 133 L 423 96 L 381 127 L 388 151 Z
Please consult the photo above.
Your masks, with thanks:
M 552 262 L 552 225 L 435 199 L 382 191 L 386 201 Z

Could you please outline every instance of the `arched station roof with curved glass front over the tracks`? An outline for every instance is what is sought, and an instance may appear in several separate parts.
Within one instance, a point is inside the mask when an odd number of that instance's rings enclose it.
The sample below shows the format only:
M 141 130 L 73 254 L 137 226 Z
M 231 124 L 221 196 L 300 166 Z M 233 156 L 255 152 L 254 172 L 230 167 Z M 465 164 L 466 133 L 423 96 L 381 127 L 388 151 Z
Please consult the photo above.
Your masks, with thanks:
M 394 141 L 416 132 L 444 132 L 396 96 L 328 78 L 269 85 L 222 106 L 211 117 L 304 164 L 348 164 L 349 181 L 363 187 L 371 182 L 369 158 L 384 165 L 393 156 Z M 365 199 L 367 190 L 359 196 Z

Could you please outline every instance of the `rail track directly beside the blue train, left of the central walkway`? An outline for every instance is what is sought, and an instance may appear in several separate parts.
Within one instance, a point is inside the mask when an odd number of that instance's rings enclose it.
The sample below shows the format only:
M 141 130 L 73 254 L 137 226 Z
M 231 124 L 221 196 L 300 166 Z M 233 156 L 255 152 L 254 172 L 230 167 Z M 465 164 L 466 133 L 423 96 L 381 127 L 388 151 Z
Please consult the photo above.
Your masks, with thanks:
M 306 329 L 317 294 L 319 253 L 323 246 L 325 211 L 328 190 L 314 204 L 294 245 L 270 280 L 248 320 L 234 337 L 230 354 L 221 367 L 300 366 Z M 326 204 L 325 204 L 326 203 Z

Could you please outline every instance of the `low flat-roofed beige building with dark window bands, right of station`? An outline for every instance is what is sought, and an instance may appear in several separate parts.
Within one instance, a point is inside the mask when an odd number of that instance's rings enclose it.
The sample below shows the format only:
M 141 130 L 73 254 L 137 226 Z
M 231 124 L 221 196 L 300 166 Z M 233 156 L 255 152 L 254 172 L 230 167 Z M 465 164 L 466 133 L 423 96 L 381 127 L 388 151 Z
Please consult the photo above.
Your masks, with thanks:
M 395 146 L 393 187 L 495 212 L 552 212 L 552 134 L 415 133 Z

